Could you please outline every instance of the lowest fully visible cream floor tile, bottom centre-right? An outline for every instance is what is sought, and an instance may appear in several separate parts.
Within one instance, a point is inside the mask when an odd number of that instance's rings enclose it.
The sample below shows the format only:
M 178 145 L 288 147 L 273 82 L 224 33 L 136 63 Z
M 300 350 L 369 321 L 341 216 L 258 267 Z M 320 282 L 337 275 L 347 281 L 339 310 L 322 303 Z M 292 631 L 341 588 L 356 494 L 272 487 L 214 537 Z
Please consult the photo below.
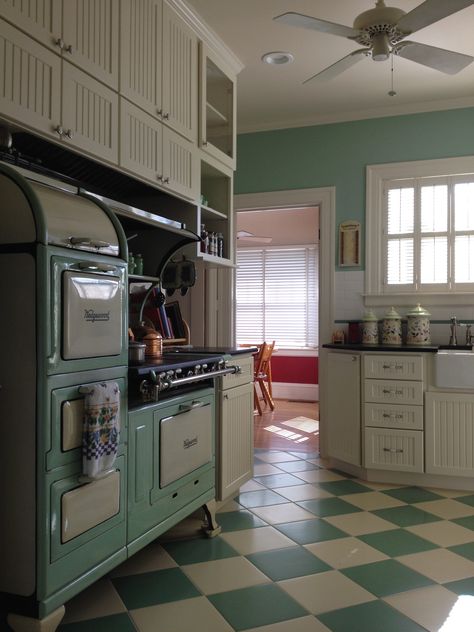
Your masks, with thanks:
M 372 593 L 339 571 L 296 577 L 277 583 L 312 614 L 347 608 L 375 599 Z

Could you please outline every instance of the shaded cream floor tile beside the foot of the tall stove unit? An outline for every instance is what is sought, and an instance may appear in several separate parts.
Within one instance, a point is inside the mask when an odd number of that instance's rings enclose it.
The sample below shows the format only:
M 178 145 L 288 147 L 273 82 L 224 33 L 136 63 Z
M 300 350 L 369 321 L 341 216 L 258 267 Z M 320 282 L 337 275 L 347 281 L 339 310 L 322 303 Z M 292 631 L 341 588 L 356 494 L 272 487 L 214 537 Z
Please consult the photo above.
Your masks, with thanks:
M 74 623 L 126 612 L 112 582 L 104 577 L 66 603 L 62 623 Z

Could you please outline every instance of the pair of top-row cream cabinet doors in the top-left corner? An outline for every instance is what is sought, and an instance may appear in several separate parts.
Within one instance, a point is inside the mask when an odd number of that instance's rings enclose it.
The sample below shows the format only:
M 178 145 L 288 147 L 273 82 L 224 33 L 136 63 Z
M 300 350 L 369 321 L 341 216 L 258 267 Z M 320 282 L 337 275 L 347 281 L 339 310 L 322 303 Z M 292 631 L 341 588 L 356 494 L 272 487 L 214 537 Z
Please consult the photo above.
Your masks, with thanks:
M 0 15 L 73 64 L 118 88 L 117 0 L 1 0 Z

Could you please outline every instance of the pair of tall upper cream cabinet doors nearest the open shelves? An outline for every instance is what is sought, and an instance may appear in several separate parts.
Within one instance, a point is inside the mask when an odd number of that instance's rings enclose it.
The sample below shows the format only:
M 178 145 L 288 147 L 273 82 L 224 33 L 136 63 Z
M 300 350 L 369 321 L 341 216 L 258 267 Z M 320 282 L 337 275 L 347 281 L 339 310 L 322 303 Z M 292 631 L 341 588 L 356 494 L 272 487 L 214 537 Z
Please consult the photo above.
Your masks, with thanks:
M 122 0 L 120 92 L 197 141 L 195 33 L 163 0 Z

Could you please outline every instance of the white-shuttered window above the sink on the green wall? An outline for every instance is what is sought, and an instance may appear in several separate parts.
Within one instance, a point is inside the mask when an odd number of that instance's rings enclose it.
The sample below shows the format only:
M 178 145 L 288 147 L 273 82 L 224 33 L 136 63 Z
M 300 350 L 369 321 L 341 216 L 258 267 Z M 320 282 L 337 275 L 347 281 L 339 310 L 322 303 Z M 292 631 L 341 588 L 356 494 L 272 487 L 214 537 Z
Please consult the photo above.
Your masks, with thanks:
M 388 181 L 385 291 L 455 291 L 474 283 L 474 177 Z

